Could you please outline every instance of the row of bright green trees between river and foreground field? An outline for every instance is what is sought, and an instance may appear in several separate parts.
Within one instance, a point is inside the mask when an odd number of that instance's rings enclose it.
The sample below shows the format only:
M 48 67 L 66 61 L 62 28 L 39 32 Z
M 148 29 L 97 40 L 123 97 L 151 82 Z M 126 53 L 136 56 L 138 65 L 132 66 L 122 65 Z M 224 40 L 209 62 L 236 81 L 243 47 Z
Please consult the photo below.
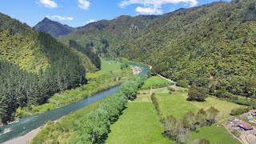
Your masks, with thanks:
M 106 99 L 97 110 L 92 111 L 86 116 L 86 119 L 80 123 L 79 129 L 76 132 L 78 135 L 70 138 L 71 141 L 79 142 L 80 138 L 86 136 L 88 139 L 84 142 L 104 142 L 107 134 L 110 133 L 110 124 L 116 122 L 122 110 L 124 110 L 127 100 L 134 98 L 134 93 L 137 93 L 138 88 L 142 86 L 143 82 L 143 76 L 134 76 L 129 81 L 122 83 L 117 93 L 113 94 L 111 98 Z

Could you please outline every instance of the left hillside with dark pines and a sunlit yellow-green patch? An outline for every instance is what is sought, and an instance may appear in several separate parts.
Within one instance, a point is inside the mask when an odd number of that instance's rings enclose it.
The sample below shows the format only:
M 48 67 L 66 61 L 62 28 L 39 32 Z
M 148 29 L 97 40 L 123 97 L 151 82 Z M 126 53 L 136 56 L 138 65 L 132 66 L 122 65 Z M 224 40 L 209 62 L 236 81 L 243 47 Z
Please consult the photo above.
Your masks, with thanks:
M 0 35 L 0 122 L 13 120 L 18 107 L 42 104 L 58 91 L 86 83 L 91 60 L 50 34 L 0 13 Z

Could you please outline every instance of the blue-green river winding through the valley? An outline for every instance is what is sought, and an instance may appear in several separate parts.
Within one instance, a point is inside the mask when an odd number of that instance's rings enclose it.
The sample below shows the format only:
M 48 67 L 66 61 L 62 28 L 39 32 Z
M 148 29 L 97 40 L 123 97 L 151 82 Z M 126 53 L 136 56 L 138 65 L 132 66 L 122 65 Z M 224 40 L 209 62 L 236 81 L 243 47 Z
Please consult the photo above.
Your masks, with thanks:
M 140 74 L 147 74 L 148 68 L 146 66 L 131 64 L 133 66 L 139 66 L 142 69 Z M 62 106 L 60 108 L 47 111 L 42 114 L 33 115 L 26 118 L 21 118 L 18 122 L 14 122 L 12 124 L 6 126 L 0 126 L 0 143 L 6 142 L 13 138 L 18 138 L 22 135 L 29 133 L 31 130 L 35 130 L 40 126 L 43 126 L 48 121 L 56 121 L 62 116 L 70 114 L 76 110 L 79 110 L 85 106 L 88 106 L 94 102 L 105 98 L 117 90 L 119 90 L 120 86 L 114 86 L 109 90 L 104 90 L 98 94 L 94 94 L 89 98 L 82 99 L 78 102 L 70 103 L 69 105 Z

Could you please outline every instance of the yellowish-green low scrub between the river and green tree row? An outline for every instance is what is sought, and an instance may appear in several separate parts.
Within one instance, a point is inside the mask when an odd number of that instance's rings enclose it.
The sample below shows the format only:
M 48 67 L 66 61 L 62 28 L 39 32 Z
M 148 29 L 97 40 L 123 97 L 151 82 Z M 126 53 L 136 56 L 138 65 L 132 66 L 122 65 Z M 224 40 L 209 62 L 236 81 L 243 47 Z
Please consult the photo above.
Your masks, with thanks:
M 44 126 L 42 130 L 36 135 L 36 137 L 31 142 L 32 144 L 38 143 L 81 143 L 86 142 L 87 135 L 84 134 L 84 137 L 78 138 L 76 141 L 70 140 L 70 136 L 76 137 L 77 134 L 74 134 L 75 130 L 78 130 L 79 123 L 84 121 L 84 118 L 91 111 L 98 109 L 98 106 L 101 102 L 106 99 L 102 99 L 98 102 L 94 102 L 93 104 L 82 108 L 81 110 L 77 110 L 72 114 L 66 115 L 61 118 L 58 122 L 51 123 L 50 125 Z M 87 136 L 87 137 L 86 137 Z

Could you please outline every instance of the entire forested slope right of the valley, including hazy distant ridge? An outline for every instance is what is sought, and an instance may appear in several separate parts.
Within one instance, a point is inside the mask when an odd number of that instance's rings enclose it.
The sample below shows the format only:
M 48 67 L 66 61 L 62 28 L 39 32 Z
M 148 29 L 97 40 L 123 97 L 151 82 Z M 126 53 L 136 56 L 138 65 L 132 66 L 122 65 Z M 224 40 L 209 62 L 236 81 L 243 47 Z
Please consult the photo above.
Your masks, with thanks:
M 222 90 L 218 97 L 256 98 L 255 5 L 253 0 L 233 0 L 159 16 L 121 16 L 59 39 L 102 47 L 104 38 L 107 57 L 146 62 L 153 66 L 151 74 Z

